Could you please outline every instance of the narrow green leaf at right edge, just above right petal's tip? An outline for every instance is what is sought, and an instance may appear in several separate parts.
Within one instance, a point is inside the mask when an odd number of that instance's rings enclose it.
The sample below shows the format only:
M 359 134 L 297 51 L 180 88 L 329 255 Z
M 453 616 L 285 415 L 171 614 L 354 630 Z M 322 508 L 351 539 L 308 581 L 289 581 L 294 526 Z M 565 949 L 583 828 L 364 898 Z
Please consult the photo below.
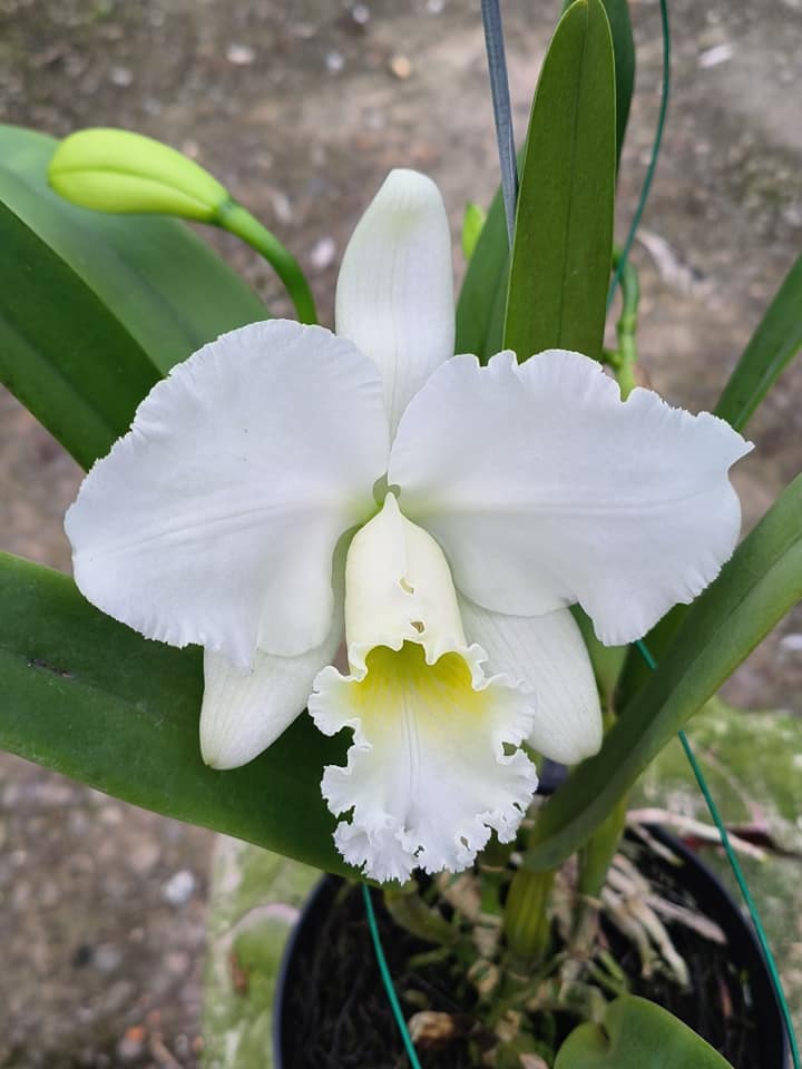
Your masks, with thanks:
M 785 366 L 802 349 L 802 256 L 769 305 L 715 409 L 742 431 Z

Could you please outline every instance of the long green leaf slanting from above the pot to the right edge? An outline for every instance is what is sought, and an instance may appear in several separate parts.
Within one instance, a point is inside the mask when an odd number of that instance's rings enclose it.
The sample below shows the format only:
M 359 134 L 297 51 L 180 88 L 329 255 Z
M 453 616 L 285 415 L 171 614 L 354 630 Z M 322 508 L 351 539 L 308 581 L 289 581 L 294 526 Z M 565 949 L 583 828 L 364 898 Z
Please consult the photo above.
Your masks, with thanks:
M 666 743 L 802 598 L 802 475 L 688 610 L 656 671 L 540 810 L 525 864 L 551 869 L 579 849 Z

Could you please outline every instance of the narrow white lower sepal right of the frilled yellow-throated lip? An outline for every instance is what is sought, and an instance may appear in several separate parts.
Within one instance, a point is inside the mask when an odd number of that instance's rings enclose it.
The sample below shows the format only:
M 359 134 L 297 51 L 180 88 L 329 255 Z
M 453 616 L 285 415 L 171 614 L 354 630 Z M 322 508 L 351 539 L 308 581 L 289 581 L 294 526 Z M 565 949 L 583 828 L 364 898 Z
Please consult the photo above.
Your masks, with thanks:
M 469 643 L 487 654 L 487 670 L 503 673 L 535 695 L 527 742 L 544 757 L 575 765 L 602 745 L 602 707 L 590 658 L 569 609 L 502 616 L 459 599 Z

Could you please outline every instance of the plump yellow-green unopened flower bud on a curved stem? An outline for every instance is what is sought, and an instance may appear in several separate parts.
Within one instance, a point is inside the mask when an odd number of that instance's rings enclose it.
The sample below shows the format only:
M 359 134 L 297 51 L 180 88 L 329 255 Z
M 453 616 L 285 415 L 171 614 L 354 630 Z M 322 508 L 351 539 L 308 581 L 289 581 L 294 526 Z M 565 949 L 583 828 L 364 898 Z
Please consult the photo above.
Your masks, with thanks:
M 211 223 L 231 200 L 227 189 L 192 159 L 129 130 L 71 134 L 56 149 L 48 178 L 65 199 L 96 212 L 158 213 Z

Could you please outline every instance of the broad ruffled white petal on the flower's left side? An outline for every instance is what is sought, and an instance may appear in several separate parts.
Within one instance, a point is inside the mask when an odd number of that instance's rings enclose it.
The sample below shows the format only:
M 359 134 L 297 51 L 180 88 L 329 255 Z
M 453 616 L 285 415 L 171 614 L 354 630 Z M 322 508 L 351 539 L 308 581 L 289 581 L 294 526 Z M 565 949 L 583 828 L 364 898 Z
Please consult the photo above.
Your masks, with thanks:
M 374 508 L 375 367 L 316 326 L 224 334 L 177 365 L 67 514 L 76 581 L 149 638 L 250 667 L 324 641 L 332 556 Z

